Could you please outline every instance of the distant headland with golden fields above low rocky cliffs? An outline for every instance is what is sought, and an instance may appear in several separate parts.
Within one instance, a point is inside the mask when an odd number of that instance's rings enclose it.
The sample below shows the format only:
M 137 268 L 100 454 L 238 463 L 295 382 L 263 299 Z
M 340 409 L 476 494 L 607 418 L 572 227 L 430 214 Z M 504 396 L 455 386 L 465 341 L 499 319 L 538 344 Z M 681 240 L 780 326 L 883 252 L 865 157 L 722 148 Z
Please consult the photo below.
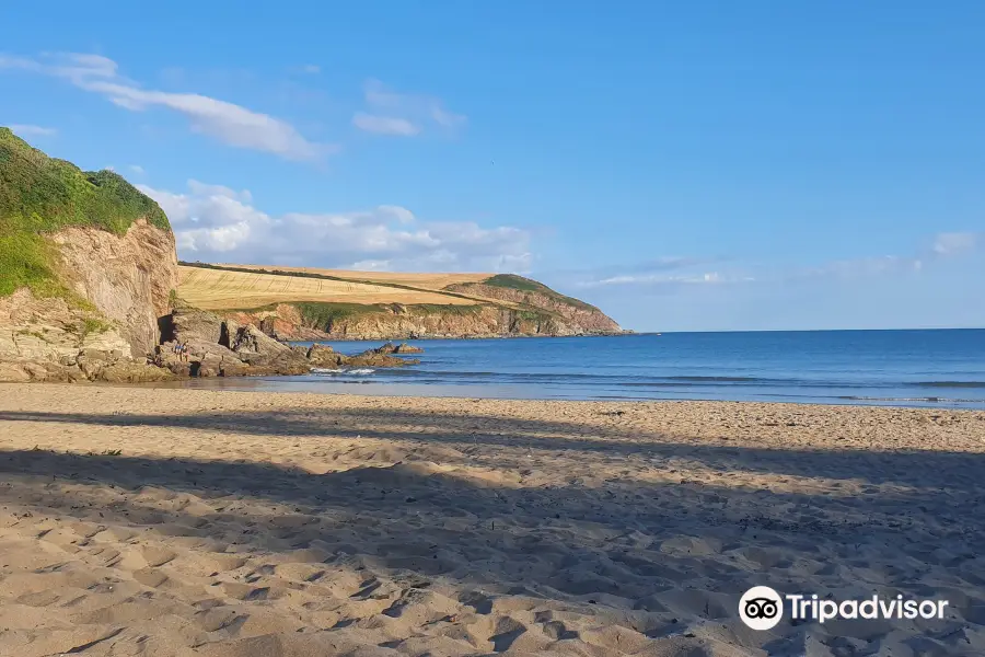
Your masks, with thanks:
M 182 263 L 194 306 L 281 339 L 605 335 L 623 331 L 594 306 L 508 274 L 376 276 Z M 399 276 L 395 279 L 395 276 Z M 456 279 L 445 283 L 448 278 Z M 279 302 L 270 302 L 279 300 Z M 251 301 L 263 303 L 244 308 Z

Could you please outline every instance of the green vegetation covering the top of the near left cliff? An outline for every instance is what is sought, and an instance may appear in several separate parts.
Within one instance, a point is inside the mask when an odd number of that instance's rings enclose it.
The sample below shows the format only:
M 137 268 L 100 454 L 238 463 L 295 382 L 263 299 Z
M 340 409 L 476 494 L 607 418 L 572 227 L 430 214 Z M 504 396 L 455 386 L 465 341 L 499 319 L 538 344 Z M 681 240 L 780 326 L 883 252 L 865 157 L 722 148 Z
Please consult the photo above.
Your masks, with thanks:
M 84 172 L 0 127 L 0 296 L 28 287 L 38 297 L 70 297 L 43 235 L 70 226 L 124 234 L 140 218 L 171 230 L 158 204 L 123 176 Z

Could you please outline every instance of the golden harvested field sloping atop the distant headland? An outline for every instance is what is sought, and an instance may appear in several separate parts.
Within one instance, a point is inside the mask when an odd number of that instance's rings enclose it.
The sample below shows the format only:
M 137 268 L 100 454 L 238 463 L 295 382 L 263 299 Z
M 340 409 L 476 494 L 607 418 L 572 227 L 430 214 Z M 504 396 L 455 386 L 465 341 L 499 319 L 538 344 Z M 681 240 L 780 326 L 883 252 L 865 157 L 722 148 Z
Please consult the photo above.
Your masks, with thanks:
M 228 265 L 241 267 L 243 265 Z M 279 267 L 285 270 L 288 267 Z M 296 269 L 306 270 L 306 269 Z M 326 275 L 348 276 L 370 276 L 362 272 L 340 272 L 339 274 L 327 274 L 328 270 L 312 269 L 314 273 L 326 273 Z M 276 274 L 250 274 L 245 272 L 227 272 L 221 269 L 204 269 L 200 267 L 179 266 L 178 267 L 178 296 L 185 301 L 206 310 L 223 310 L 223 309 L 250 309 L 268 306 L 271 303 L 282 303 L 289 301 L 321 301 L 335 303 L 436 303 L 436 304 L 460 304 L 468 306 L 475 303 L 475 300 L 455 297 L 451 295 L 442 295 L 440 292 L 430 291 L 429 289 L 408 290 L 385 285 L 372 285 L 364 283 L 348 283 L 341 280 L 325 280 L 320 278 L 303 278 L 298 276 L 280 276 Z M 371 275 L 373 278 L 383 280 L 378 274 Z M 482 275 L 456 275 L 456 274 L 390 274 L 387 276 L 402 277 L 403 285 L 414 285 L 403 283 L 403 280 L 412 280 L 408 277 L 428 277 L 422 280 L 430 281 L 431 285 L 438 285 L 440 277 L 445 277 L 451 281 L 455 277 L 471 276 L 470 280 Z M 461 280 L 461 278 L 459 278 Z M 387 279 L 386 283 L 396 284 L 397 280 Z M 424 286 L 420 287 L 430 287 Z M 445 283 L 444 285 L 449 285 Z

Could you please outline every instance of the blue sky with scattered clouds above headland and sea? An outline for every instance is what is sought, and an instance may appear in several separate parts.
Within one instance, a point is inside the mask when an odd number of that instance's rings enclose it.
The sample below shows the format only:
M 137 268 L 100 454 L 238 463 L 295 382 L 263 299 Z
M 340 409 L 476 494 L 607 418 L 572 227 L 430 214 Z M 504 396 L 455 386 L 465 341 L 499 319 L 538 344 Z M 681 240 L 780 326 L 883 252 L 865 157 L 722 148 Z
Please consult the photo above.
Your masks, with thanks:
M 183 260 L 985 326 L 985 3 L 42 4 L 0 9 L 0 125 L 125 175 Z

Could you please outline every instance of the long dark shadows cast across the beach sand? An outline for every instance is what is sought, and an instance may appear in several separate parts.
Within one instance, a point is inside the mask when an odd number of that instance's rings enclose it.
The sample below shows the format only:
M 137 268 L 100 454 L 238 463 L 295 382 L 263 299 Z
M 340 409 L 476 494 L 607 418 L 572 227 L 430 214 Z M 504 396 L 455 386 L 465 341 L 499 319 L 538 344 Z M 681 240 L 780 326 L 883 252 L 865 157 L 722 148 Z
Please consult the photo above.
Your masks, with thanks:
M 710 469 L 715 484 L 635 481 L 523 487 L 438 472 L 427 459 L 327 474 L 257 462 L 135 458 L 49 451 L 0 452 L 0 502 L 34 512 L 152 527 L 197 537 L 216 550 L 317 551 L 323 563 L 385 568 L 426 586 L 652 612 L 640 631 L 662 636 L 680 621 L 732 621 L 750 586 L 779 590 L 873 590 L 947 595 L 967 587 L 951 625 L 985 623 L 985 461 L 959 452 L 859 453 L 709 445 L 613 427 L 606 438 L 564 422 L 436 416 L 397 410 L 240 415 L 0 413 L 0 422 L 174 427 L 289 439 L 389 438 L 441 446 L 447 462 L 522 474 L 529 456 L 563 453 L 590 468 L 636 459 L 647 468 Z M 350 429 L 350 425 L 359 428 Z M 576 437 L 571 437 L 575 435 Z M 659 439 L 658 439 L 659 438 Z M 123 445 L 125 448 L 125 445 Z M 424 452 L 426 454 L 426 452 Z M 449 453 L 452 456 L 449 457 Z M 733 474 L 814 477 L 823 493 L 751 487 Z M 71 484 L 44 495 L 50 482 Z M 865 502 L 838 482 L 870 487 Z M 108 505 L 101 491 L 119 494 Z M 149 495 L 161 489 L 166 493 Z M 163 504 L 169 498 L 167 504 Z M 189 510 L 187 498 L 201 504 Z M 175 497 L 176 496 L 176 497 Z M 32 502 L 34 500 L 34 502 Z M 714 591 L 693 608 L 684 591 Z M 471 595 L 471 593 L 470 593 Z M 688 620 L 690 619 L 690 620 Z M 802 632 L 774 646 L 803 645 Z M 792 649 L 792 648 L 791 648 Z

